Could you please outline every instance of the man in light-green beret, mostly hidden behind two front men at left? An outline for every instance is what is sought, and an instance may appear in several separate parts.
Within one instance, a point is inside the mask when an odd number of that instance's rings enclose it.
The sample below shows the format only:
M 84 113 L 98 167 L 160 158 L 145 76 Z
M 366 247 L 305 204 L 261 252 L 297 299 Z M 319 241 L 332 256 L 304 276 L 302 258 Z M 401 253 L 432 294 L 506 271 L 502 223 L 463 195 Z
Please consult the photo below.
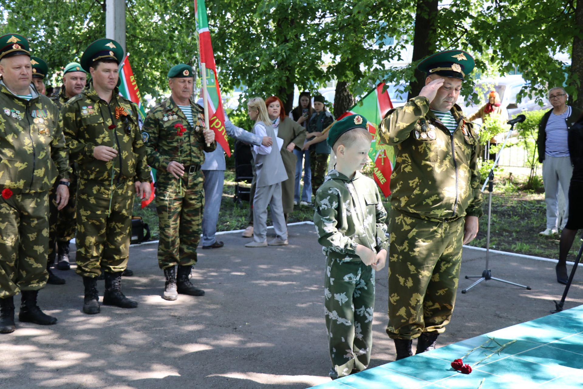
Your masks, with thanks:
M 34 77 L 34 76 L 33 76 Z M 79 93 L 83 92 L 83 88 L 87 83 L 87 73 L 81 68 L 76 62 L 71 62 L 65 66 L 63 71 L 63 85 L 59 94 L 51 97 L 51 100 L 55 105 L 62 110 L 62 107 L 66 104 L 69 99 L 75 97 Z M 69 240 L 75 237 L 75 227 L 77 225 L 75 220 L 75 199 L 77 194 L 77 180 L 75 178 L 76 171 L 78 170 L 77 164 L 71 161 L 70 163 L 72 174 L 69 185 L 69 202 L 65 208 L 61 211 L 57 210 L 55 202 L 55 190 L 53 187 L 51 193 L 49 194 L 49 240 L 48 240 L 48 281 L 47 283 L 54 283 L 61 285 L 65 283 L 65 280 L 59 278 L 52 274 L 50 267 L 55 262 L 55 257 L 58 257 L 57 265 L 55 268 L 59 270 L 69 270 L 71 265 L 69 264 Z M 55 242 L 58 247 L 58 255 L 55 253 Z

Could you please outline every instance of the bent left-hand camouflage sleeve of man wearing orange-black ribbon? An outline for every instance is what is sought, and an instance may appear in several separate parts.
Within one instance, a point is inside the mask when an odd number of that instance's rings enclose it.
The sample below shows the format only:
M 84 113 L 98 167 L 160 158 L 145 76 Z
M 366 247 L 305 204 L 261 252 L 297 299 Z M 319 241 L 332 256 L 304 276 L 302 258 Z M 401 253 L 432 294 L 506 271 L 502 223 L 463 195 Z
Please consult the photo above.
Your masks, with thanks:
M 65 104 L 61 110 L 59 122 L 65 135 L 65 143 L 69 149 L 69 160 L 77 163 L 90 162 L 94 159 L 92 142 L 82 142 L 79 140 L 79 128 L 81 128 L 81 118 L 76 112 L 77 104 L 71 102 Z

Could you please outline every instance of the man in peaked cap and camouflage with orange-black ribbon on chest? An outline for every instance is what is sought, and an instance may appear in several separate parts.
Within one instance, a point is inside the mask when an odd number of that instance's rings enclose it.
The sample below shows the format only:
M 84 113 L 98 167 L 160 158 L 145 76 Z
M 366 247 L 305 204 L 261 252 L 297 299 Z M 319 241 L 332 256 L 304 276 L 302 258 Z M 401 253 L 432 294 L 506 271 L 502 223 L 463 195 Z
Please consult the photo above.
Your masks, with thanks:
M 104 305 L 135 308 L 121 292 L 127 266 L 134 193 L 150 197 L 150 168 L 138 112 L 119 95 L 118 64 L 124 51 L 111 39 L 87 47 L 81 66 L 91 73 L 85 90 L 62 109 L 71 160 L 79 164 L 76 272 L 83 276 L 83 312 L 99 313 L 97 277 L 105 270 Z

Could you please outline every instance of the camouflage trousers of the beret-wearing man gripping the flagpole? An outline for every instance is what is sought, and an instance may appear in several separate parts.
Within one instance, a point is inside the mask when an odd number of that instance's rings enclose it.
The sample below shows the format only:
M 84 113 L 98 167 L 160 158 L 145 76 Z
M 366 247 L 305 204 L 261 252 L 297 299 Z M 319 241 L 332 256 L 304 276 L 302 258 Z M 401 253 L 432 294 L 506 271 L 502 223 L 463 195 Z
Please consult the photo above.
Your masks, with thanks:
M 196 247 L 201 239 L 202 212 L 205 205 L 203 175 L 184 173 L 172 183 L 156 181 L 156 211 L 160 226 L 158 265 L 196 264 Z

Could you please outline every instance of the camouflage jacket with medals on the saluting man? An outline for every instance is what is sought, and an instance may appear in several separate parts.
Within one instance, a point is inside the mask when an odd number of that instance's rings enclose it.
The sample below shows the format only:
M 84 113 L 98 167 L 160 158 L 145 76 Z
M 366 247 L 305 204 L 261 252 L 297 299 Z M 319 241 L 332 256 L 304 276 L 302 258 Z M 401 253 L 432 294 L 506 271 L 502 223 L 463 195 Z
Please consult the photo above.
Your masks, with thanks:
M 391 206 L 438 222 L 482 215 L 476 134 L 459 106 L 451 109 L 458 127 L 450 132 L 423 96 L 390 110 L 380 137 L 394 146 Z

